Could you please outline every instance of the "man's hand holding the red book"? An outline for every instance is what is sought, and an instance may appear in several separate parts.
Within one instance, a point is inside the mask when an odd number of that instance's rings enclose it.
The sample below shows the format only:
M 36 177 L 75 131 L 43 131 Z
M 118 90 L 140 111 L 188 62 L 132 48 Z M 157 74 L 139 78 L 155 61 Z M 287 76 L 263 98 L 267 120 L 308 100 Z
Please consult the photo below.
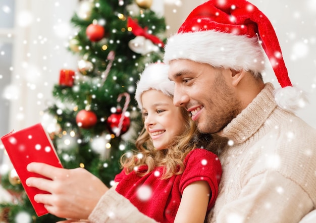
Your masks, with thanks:
M 83 168 L 67 170 L 32 162 L 27 170 L 49 178 L 30 177 L 26 184 L 50 193 L 37 194 L 34 200 L 43 203 L 49 213 L 58 217 L 87 219 L 100 197 L 109 190 Z

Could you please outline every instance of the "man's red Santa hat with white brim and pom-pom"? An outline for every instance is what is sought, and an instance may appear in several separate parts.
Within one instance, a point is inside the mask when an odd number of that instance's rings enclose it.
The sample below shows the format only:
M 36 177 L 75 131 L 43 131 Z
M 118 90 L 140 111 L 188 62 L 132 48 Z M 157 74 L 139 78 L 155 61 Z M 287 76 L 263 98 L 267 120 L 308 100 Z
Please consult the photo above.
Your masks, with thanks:
M 306 97 L 291 84 L 271 22 L 245 0 L 210 0 L 196 7 L 168 39 L 164 62 L 188 59 L 257 75 L 265 69 L 264 53 L 282 87 L 274 92 L 276 102 L 294 112 Z

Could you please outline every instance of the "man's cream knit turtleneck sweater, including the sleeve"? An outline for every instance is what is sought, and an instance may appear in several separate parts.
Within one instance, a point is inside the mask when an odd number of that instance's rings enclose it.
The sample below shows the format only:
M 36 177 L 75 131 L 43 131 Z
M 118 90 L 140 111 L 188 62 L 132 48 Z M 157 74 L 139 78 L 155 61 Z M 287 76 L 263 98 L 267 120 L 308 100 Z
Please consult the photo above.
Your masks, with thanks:
M 299 222 L 316 207 L 316 130 L 276 105 L 266 87 L 220 133 L 223 176 L 207 222 Z M 159 204 L 157 204 L 159 205 Z M 90 222 L 155 222 L 113 189 Z

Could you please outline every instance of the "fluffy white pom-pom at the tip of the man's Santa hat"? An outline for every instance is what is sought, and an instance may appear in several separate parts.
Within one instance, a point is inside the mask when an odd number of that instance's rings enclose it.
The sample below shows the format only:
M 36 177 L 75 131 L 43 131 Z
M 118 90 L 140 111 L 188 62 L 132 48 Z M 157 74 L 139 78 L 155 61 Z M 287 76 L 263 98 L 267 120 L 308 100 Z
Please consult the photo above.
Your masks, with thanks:
M 294 113 L 308 103 L 306 93 L 296 87 L 284 87 L 273 92 L 277 104 L 288 112 Z

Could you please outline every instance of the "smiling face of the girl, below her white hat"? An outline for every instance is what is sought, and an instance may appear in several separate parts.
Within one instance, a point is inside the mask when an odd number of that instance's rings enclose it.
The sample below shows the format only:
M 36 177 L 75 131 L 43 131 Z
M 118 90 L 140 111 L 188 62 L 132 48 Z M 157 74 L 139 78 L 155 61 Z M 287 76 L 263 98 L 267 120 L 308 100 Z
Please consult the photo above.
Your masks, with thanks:
M 175 137 L 183 132 L 185 120 L 181 108 L 173 104 L 172 97 L 161 91 L 148 90 L 142 93 L 145 129 L 155 149 L 167 149 Z

